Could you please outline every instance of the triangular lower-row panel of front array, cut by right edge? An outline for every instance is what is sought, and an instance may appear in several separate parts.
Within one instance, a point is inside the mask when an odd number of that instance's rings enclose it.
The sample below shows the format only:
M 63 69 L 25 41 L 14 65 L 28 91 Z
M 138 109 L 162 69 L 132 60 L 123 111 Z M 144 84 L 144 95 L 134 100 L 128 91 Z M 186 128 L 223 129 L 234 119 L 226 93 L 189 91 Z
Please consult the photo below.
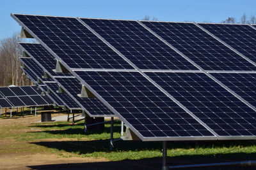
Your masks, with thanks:
M 211 75 L 256 107 L 256 74 L 211 73 Z

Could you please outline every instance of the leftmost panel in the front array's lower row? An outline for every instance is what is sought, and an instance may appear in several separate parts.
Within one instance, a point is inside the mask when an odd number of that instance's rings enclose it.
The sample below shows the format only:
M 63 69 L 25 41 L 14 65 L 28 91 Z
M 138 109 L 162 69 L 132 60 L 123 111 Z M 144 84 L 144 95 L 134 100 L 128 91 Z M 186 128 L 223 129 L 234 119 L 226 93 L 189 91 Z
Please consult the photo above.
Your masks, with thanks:
M 144 138 L 213 136 L 138 72 L 76 73 Z

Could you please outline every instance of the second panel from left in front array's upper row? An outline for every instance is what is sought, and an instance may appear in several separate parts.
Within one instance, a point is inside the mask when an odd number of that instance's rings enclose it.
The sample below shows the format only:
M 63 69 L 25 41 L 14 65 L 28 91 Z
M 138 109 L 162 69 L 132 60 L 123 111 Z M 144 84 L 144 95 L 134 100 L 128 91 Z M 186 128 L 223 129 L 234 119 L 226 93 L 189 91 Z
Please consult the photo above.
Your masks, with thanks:
M 81 20 L 140 69 L 197 69 L 136 21 Z

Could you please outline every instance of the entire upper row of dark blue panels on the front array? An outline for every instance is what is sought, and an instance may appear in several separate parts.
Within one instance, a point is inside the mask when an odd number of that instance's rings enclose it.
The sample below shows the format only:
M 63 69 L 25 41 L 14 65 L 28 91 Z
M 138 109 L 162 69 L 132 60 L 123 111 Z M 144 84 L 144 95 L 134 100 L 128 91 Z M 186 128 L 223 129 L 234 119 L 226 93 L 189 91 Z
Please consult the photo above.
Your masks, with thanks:
M 248 61 L 248 59 L 255 60 L 253 43 L 250 43 L 249 47 L 246 45 L 247 40 L 243 40 L 248 37 L 251 40 L 256 34 L 256 30 L 250 25 L 221 27 L 221 24 L 88 18 L 81 18 L 83 22 L 80 22 L 77 18 L 14 16 L 71 68 L 134 69 L 138 67 L 139 69 L 198 70 L 198 67 L 182 56 L 185 55 L 205 70 L 256 71 L 255 64 Z M 202 27 L 233 48 L 237 48 L 236 50 L 248 59 L 218 41 Z M 227 27 L 224 29 L 227 31 L 218 33 L 223 27 Z M 232 30 L 232 34 L 226 39 L 223 38 L 228 36 L 229 29 Z M 222 34 L 225 35 L 221 37 Z M 238 38 L 232 38 L 234 35 Z M 99 36 L 115 50 L 104 43 Z M 254 41 L 256 39 L 252 42 Z M 232 42 L 239 45 L 242 43 L 243 46 L 237 47 Z M 239 50 L 240 48 L 242 50 Z M 177 53 L 177 50 L 182 54 Z M 120 53 L 131 61 L 132 65 L 121 57 Z

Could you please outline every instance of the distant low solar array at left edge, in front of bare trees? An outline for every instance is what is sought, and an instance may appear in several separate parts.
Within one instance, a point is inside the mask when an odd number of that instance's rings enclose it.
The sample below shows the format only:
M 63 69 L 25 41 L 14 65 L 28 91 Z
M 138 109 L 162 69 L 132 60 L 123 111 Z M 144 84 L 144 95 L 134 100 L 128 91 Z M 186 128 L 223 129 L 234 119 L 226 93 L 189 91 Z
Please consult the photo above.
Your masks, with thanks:
M 1 108 L 52 105 L 51 99 L 41 94 L 35 86 L 0 87 Z

